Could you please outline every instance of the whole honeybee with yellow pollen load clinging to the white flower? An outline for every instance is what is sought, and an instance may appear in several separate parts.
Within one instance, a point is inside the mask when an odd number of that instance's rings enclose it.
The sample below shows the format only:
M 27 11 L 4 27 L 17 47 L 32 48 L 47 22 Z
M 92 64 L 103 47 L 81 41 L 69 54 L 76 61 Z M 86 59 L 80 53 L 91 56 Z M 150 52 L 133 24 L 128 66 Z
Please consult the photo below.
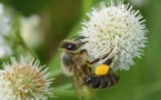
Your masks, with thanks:
M 68 77 L 72 77 L 71 81 L 74 88 L 81 89 L 84 84 L 88 88 L 107 88 L 114 86 L 119 81 L 119 76 L 117 76 L 111 68 L 109 67 L 112 62 L 112 59 L 104 61 L 104 68 L 109 70 L 101 72 L 102 64 L 98 66 L 97 70 L 93 72 L 93 64 L 99 62 L 102 59 L 105 59 L 110 52 L 105 53 L 101 58 L 93 59 L 89 61 L 88 51 L 81 47 L 88 41 L 82 42 L 79 39 L 85 37 L 79 37 L 76 40 L 67 39 L 60 42 L 59 49 L 63 51 L 61 56 L 61 67 L 63 72 Z M 76 89 L 78 90 L 78 89 Z

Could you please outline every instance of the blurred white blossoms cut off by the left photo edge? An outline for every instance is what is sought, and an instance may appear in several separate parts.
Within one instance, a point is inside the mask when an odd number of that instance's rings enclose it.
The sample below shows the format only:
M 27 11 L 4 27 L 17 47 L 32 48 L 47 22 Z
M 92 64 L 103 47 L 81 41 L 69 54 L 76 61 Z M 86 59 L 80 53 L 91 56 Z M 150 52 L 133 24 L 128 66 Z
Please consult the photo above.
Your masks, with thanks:
M 0 58 L 12 53 L 11 48 L 4 41 L 4 37 L 10 30 L 10 18 L 7 16 L 3 4 L 0 3 Z

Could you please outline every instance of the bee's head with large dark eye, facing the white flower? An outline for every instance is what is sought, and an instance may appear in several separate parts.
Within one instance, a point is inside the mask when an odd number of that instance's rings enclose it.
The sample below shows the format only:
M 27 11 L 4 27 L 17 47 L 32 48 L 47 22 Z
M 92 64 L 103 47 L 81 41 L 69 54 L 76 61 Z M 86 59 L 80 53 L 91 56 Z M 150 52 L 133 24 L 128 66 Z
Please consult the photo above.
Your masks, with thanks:
M 80 41 L 73 41 L 73 40 L 63 40 L 60 42 L 59 48 L 61 50 L 66 51 L 76 51 L 81 47 Z

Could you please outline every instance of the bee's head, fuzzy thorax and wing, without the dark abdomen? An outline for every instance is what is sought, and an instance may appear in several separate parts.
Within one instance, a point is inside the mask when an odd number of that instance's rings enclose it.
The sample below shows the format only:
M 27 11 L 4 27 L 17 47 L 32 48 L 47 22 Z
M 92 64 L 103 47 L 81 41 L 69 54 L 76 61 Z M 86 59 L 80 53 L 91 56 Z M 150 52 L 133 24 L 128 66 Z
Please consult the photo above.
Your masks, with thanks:
M 59 49 L 63 51 L 61 56 L 61 67 L 66 76 L 71 80 L 71 83 L 81 100 L 83 94 L 84 76 L 91 74 L 92 68 L 88 63 L 88 53 L 85 49 L 81 49 L 81 46 L 85 42 L 80 40 L 63 40 L 59 44 Z M 89 90 L 88 90 L 89 91 Z

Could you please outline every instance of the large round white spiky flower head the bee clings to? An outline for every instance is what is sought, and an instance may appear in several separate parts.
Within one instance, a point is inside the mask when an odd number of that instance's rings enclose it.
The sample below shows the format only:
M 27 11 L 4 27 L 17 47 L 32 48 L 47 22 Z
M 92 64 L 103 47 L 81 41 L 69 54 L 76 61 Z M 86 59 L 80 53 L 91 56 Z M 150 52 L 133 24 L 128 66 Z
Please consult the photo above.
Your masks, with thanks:
M 134 64 L 133 58 L 142 54 L 147 42 L 148 30 L 140 11 L 118 0 L 110 1 L 108 6 L 101 3 L 88 17 L 90 20 L 82 23 L 79 34 L 88 37 L 82 41 L 89 41 L 83 46 L 89 56 L 100 58 L 112 50 L 107 58 L 113 58 L 110 67 L 113 70 L 129 70 L 130 64 Z

